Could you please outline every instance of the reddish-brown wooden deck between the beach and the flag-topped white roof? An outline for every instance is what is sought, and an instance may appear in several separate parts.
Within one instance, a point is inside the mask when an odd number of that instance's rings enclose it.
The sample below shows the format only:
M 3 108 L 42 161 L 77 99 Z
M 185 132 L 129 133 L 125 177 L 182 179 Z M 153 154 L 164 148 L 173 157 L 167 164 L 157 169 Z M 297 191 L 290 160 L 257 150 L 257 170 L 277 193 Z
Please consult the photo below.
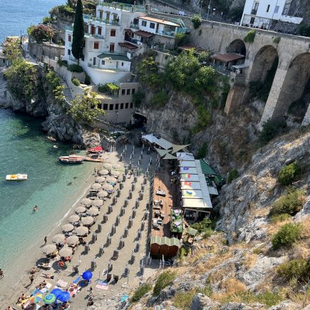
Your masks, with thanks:
M 155 212 L 163 212 L 165 217 L 162 219 L 162 225 L 160 225 L 159 229 L 153 228 L 151 230 L 151 236 L 158 237 L 171 237 L 170 232 L 170 210 L 172 206 L 177 207 L 177 191 L 176 185 L 170 185 L 170 173 L 169 167 L 165 167 L 164 172 L 155 172 L 154 178 L 154 190 L 153 190 L 153 212 L 152 212 L 152 222 L 153 219 L 157 219 L 155 217 Z M 156 195 L 157 190 L 164 190 L 165 196 Z M 162 207 L 156 206 L 154 201 L 162 200 Z

